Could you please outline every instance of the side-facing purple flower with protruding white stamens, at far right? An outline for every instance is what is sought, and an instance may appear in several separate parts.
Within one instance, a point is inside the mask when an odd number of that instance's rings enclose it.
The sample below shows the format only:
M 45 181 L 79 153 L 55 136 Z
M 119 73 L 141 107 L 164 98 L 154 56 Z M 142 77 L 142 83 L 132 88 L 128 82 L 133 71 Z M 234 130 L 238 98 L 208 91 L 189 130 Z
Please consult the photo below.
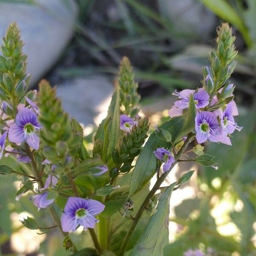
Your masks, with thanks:
M 238 126 L 233 118 L 233 105 L 228 103 L 221 118 L 221 127 L 225 135 L 232 134 L 235 130 L 241 131 L 242 127 Z

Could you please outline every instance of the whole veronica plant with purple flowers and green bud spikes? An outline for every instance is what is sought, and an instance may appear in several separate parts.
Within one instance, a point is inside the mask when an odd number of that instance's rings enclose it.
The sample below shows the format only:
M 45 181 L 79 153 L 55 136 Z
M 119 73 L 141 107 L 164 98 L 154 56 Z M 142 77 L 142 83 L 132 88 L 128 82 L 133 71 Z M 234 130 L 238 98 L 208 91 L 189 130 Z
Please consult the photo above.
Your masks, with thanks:
M 200 144 L 208 140 L 231 145 L 231 134 L 241 130 L 233 117 L 238 114 L 234 85 L 228 81 L 236 65 L 234 39 L 227 24 L 218 29 L 217 48 L 210 53 L 210 66 L 203 69 L 202 86 L 175 90 L 177 101 L 169 110 L 169 120 L 149 137 L 148 118 L 138 114 L 138 84 L 128 58 L 123 58 L 108 116 L 99 125 L 90 155 L 81 125 L 64 112 L 47 81 L 40 82 L 38 93 L 26 92 L 26 55 L 12 23 L 0 57 L 0 157 L 9 154 L 20 169 L 2 165 L 0 173 L 22 177 L 17 200 L 32 192 L 35 207 L 49 210 L 54 221 L 44 228 L 28 217 L 23 224 L 41 230 L 58 227 L 72 255 L 163 255 L 169 198 L 193 171 L 168 187 L 161 184 L 180 161 L 216 169 L 214 156 L 204 154 Z M 197 144 L 192 149 L 195 156 L 188 158 L 186 149 L 192 142 Z M 155 174 L 156 183 L 144 195 Z M 88 230 L 95 249 L 78 252 L 69 233 L 79 226 Z

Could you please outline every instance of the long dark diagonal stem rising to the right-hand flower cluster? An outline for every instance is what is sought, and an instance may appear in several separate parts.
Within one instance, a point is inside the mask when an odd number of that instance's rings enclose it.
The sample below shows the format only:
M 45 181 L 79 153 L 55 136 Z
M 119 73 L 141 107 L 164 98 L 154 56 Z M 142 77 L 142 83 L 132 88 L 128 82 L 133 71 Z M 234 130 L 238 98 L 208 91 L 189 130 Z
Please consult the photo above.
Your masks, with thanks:
M 182 147 L 180 148 L 180 151 L 176 154 L 175 157 L 175 162 L 172 163 L 172 166 L 170 167 L 168 172 L 164 172 L 159 179 L 157 179 L 156 183 L 154 184 L 154 187 L 151 189 L 151 191 L 148 193 L 147 197 L 145 198 L 143 204 L 141 205 L 140 209 L 138 210 L 137 214 L 134 217 L 134 221 L 131 223 L 131 226 L 129 228 L 129 230 L 127 231 L 125 238 L 122 242 L 122 246 L 119 252 L 119 256 L 123 256 L 128 244 L 128 241 L 130 240 L 131 234 L 133 233 L 138 221 L 140 220 L 141 215 L 143 214 L 143 211 L 145 209 L 145 207 L 148 206 L 149 200 L 154 196 L 155 192 L 157 192 L 157 190 L 160 188 L 160 185 L 163 183 L 163 181 L 165 180 L 165 178 L 167 177 L 167 175 L 169 174 L 169 172 L 172 170 L 172 168 L 176 165 L 177 160 L 182 156 L 183 152 L 186 150 L 186 148 L 188 147 L 189 143 L 193 140 L 193 138 L 195 137 L 194 134 L 189 134 L 186 141 L 184 142 L 184 144 L 182 145 Z

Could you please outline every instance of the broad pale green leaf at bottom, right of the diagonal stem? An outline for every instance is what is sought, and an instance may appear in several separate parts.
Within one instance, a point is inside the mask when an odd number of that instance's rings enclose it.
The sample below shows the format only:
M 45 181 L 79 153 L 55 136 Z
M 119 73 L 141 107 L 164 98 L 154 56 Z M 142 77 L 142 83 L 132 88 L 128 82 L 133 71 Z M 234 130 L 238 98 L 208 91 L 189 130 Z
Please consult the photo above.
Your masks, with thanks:
M 163 247 L 168 244 L 169 201 L 174 186 L 172 183 L 161 196 L 157 205 L 157 212 L 151 216 L 143 234 L 129 256 L 161 256 Z

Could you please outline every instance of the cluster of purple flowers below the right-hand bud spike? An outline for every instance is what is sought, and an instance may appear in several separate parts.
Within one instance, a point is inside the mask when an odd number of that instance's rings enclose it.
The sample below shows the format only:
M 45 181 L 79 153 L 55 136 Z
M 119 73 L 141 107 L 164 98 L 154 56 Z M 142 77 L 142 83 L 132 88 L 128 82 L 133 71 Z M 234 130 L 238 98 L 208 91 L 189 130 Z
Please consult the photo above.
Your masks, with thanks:
M 219 90 L 218 93 L 220 94 L 221 91 Z M 189 106 L 190 95 L 193 96 L 197 111 L 195 132 L 199 144 L 209 140 L 231 145 L 231 134 L 235 130 L 241 131 L 242 127 L 239 127 L 233 118 L 238 114 L 236 103 L 233 100 L 227 104 L 219 104 L 220 100 L 215 95 L 209 102 L 209 94 L 204 88 L 199 88 L 197 92 L 195 90 L 182 90 L 180 93 L 175 91 L 174 95 L 178 96 L 178 100 L 169 110 L 170 117 L 182 115 L 183 110 Z

